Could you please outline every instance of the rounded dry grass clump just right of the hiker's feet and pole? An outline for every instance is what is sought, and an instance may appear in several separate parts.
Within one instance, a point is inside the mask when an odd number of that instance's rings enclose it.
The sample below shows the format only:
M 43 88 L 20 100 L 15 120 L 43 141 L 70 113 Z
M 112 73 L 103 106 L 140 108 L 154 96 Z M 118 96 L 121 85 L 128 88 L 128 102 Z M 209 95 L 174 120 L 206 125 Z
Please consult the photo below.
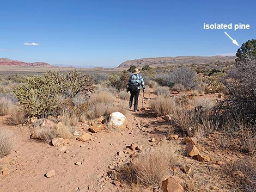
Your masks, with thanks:
M 175 101 L 170 97 L 157 96 L 154 100 L 150 101 L 150 107 L 161 116 L 172 113 L 174 106 Z

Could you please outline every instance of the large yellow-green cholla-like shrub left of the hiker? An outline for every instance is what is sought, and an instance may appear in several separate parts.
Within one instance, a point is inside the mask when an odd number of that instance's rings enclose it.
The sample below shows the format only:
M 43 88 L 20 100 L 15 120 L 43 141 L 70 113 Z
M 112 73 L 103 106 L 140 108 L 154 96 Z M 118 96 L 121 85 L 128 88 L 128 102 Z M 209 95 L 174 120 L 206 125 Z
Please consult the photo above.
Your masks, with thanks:
M 58 115 L 66 105 L 73 105 L 71 99 L 77 94 L 89 97 L 94 89 L 92 78 L 77 71 L 64 74 L 48 71 L 42 76 L 27 77 L 16 86 L 14 94 L 29 117 L 44 118 Z

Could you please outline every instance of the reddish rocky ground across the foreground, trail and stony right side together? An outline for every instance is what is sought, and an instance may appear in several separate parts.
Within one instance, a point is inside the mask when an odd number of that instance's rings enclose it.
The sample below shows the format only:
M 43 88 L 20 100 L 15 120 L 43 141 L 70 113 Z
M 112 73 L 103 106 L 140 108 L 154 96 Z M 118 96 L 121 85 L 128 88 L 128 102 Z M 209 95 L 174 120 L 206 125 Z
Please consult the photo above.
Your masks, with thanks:
M 64 140 L 60 146 L 62 141 L 52 146 L 31 139 L 31 126 L 7 126 L 1 117 L 0 126 L 14 132 L 15 146 L 0 159 L 0 191 L 134 191 L 120 181 L 118 169 L 163 140 L 181 152 L 180 165 L 170 175 L 182 185 L 175 191 L 235 191 L 226 167 L 245 155 L 225 148 L 221 132 L 200 140 L 168 133 L 168 123 L 148 110 L 148 102 L 138 113 L 127 111 L 124 131 L 92 133 L 88 132 L 90 122 L 80 123 L 76 131 L 89 134 L 89 139 Z M 141 101 L 139 104 L 142 107 Z

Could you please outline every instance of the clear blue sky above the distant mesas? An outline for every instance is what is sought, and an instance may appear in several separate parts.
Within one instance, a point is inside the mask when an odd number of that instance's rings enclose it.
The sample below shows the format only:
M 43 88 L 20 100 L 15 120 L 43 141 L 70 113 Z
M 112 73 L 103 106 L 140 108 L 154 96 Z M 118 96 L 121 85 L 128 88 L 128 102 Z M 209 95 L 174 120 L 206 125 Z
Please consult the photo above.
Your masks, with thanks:
M 253 0 L 5 0 L 0 58 L 115 67 L 138 58 L 235 53 L 239 47 L 224 31 L 240 45 L 256 39 L 255 7 Z M 204 30 L 204 23 L 251 28 Z

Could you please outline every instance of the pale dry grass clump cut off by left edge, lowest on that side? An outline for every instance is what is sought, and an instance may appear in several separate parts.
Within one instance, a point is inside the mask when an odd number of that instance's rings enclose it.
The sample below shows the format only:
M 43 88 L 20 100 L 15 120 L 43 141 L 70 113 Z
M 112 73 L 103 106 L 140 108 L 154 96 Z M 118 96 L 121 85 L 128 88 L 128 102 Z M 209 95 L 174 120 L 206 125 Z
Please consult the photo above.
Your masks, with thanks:
M 0 158 L 10 154 L 13 148 L 13 135 L 5 130 L 0 129 Z

